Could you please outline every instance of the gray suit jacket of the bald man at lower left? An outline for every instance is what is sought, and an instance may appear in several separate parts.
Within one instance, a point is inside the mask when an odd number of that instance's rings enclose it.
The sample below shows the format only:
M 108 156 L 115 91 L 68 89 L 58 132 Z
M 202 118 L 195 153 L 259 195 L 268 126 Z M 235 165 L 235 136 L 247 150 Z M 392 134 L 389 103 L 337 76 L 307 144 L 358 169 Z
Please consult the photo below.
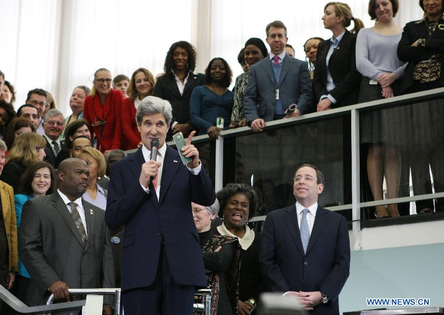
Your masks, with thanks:
M 59 193 L 32 198 L 23 206 L 19 251 L 31 275 L 27 305 L 46 304 L 48 288 L 57 280 L 70 288 L 115 287 L 111 234 L 105 225 L 105 213 L 82 202 L 86 245 Z

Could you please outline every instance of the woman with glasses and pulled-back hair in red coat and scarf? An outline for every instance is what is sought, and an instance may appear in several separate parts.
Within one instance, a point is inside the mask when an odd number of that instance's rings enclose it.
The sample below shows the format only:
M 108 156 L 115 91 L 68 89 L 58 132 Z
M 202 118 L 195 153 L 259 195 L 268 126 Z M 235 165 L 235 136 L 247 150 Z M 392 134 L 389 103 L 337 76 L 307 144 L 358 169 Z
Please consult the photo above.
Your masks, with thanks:
M 111 89 L 111 81 L 108 69 L 98 69 L 83 107 L 83 118 L 91 123 L 97 138 L 97 150 L 104 154 L 120 149 L 122 139 L 120 113 L 124 97 L 121 91 Z

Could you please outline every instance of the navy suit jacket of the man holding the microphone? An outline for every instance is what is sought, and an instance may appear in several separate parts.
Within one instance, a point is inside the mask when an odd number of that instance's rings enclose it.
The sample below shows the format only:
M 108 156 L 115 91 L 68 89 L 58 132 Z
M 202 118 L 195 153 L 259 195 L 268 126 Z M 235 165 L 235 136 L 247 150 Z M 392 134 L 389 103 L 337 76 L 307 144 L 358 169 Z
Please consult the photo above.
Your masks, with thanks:
M 147 194 L 139 182 L 143 163 L 145 159 L 139 148 L 111 166 L 105 219 L 111 230 L 125 225 L 122 290 L 154 282 L 162 235 L 174 280 L 181 285 L 206 286 L 199 236 L 191 211 L 191 201 L 211 205 L 216 199 L 205 169 L 202 167 L 198 175 L 191 174 L 179 152 L 167 146 L 158 200 L 152 183 Z

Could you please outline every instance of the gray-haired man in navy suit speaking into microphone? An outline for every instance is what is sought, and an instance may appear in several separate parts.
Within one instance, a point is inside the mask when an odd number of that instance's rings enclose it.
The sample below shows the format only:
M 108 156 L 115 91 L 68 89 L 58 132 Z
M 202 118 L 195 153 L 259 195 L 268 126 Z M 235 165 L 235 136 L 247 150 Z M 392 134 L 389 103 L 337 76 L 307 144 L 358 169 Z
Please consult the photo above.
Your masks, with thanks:
M 111 168 L 105 221 L 111 230 L 125 226 L 126 315 L 191 315 L 195 286 L 206 286 L 191 201 L 211 205 L 216 195 L 191 144 L 194 132 L 182 152 L 165 144 L 171 119 L 168 101 L 144 98 L 136 113 L 143 146 Z M 180 154 L 191 162 L 185 166 Z

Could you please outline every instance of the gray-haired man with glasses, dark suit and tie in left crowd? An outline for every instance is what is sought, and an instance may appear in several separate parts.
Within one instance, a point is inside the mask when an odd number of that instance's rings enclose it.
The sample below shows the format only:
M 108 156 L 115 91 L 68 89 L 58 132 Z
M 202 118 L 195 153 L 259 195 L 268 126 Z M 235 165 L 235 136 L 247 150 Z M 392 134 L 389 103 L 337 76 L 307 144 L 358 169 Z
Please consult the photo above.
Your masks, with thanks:
M 66 149 L 65 145 L 60 142 L 60 135 L 65 127 L 63 114 L 59 110 L 49 110 L 43 119 L 43 138 L 46 140 L 45 161 L 55 166 L 57 155 Z

